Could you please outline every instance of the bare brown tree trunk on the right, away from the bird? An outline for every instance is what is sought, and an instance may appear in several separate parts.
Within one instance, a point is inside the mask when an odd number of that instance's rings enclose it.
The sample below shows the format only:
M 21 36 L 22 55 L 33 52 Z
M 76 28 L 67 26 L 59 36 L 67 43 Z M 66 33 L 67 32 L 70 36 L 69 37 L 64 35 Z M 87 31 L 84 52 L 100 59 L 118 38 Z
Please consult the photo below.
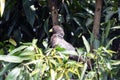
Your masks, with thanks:
M 93 24 L 93 35 L 97 39 L 99 36 L 102 3 L 103 3 L 103 0 L 96 0 L 95 16 L 94 16 L 94 24 Z

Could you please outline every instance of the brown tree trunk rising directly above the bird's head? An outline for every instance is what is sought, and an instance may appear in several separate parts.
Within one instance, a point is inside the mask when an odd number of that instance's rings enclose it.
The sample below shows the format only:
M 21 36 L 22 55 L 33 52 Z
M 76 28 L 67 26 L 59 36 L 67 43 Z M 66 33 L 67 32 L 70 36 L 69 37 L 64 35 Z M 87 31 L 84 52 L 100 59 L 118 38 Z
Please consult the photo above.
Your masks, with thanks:
M 48 0 L 49 9 L 52 15 L 52 25 L 58 25 L 58 10 L 57 10 L 57 1 L 58 0 Z

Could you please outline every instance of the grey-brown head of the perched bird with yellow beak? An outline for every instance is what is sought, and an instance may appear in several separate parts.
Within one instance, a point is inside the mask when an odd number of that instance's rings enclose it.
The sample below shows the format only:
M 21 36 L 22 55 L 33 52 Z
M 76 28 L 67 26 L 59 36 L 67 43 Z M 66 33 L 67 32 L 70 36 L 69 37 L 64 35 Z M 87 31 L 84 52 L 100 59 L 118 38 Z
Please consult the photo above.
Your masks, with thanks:
M 59 25 L 53 26 L 52 29 L 50 30 L 50 32 L 53 32 L 53 34 L 57 34 L 57 35 L 59 35 L 61 37 L 64 37 L 64 35 L 65 35 L 64 30 Z

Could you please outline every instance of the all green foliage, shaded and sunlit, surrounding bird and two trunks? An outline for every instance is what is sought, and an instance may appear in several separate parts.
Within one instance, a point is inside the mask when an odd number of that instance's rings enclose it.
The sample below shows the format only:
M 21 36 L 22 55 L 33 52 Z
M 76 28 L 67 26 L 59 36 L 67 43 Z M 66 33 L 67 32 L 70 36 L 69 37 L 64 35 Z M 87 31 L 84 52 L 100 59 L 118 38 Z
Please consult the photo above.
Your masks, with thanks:
M 84 57 L 78 62 L 69 60 L 71 52 L 50 48 L 47 0 L 0 0 L 0 80 L 119 80 L 118 2 L 103 0 L 98 39 L 92 34 L 94 10 L 95 0 L 58 0 L 65 39 Z

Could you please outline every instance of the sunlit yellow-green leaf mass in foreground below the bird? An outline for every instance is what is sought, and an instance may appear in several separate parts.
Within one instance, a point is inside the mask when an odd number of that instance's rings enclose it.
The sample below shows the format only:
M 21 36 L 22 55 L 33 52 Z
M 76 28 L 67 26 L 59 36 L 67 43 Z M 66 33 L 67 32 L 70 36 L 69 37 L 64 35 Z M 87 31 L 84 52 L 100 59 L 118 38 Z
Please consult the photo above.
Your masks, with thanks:
M 0 72 L 1 79 L 5 77 L 6 80 L 107 80 L 107 76 L 114 79 L 112 66 L 116 64 L 111 60 L 114 53 L 111 50 L 100 47 L 95 50 L 96 54 L 93 54 L 88 52 L 89 45 L 85 45 L 86 51 L 77 49 L 78 55 L 84 56 L 85 62 L 76 62 L 69 60 L 69 51 L 65 52 L 60 47 L 43 51 L 37 47 L 36 41 L 34 39 L 32 43 L 22 43 L 20 47 L 8 50 L 8 55 L 0 55 L 3 66 Z M 94 67 L 90 71 L 87 70 L 89 59 L 94 60 Z

